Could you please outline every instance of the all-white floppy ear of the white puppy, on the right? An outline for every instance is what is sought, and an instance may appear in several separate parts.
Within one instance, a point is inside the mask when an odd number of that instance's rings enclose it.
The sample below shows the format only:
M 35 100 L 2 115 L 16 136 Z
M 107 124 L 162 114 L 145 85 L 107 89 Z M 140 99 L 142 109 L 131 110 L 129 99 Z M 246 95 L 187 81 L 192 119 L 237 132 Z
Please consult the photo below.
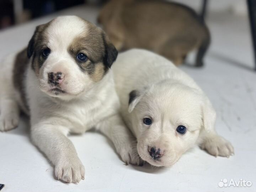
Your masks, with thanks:
M 210 103 L 209 99 L 205 96 L 203 103 L 203 126 L 206 132 L 211 132 L 215 129 L 216 112 Z

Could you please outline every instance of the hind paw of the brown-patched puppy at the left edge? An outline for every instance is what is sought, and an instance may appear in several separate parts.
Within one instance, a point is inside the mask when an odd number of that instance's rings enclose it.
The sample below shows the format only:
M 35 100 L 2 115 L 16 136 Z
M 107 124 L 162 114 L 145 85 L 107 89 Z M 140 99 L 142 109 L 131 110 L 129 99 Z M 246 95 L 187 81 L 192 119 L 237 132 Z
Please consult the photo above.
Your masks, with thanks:
M 0 114 L 0 131 L 8 131 L 18 126 L 19 115 L 17 113 Z

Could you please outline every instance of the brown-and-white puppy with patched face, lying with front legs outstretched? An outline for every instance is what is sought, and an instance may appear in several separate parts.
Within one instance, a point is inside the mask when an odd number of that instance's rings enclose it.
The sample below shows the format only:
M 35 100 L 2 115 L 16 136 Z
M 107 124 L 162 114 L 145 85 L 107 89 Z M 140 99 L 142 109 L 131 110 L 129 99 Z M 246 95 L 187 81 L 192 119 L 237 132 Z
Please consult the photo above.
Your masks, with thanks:
M 17 127 L 20 109 L 30 115 L 33 143 L 66 182 L 85 175 L 68 133 L 94 127 L 112 140 L 123 161 L 139 164 L 132 135 L 118 115 L 110 70 L 116 57 L 105 33 L 79 17 L 37 26 L 28 47 L 1 63 L 0 131 Z

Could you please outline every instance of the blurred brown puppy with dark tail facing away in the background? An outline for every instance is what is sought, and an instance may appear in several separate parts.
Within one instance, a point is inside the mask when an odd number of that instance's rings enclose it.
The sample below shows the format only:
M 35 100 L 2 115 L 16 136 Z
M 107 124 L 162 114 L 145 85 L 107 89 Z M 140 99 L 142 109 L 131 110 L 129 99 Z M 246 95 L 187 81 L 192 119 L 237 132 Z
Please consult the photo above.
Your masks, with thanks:
M 117 50 L 144 48 L 178 65 L 198 50 L 195 65 L 203 65 L 210 33 L 194 10 L 162 0 L 110 0 L 98 22 Z

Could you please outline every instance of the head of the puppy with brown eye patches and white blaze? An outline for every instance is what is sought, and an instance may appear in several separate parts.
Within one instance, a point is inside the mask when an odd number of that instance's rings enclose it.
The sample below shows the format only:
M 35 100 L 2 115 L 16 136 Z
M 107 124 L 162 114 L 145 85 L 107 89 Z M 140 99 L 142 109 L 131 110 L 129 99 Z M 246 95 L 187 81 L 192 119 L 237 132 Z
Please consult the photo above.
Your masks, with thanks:
M 70 99 L 103 79 L 117 50 L 94 24 L 62 16 L 37 26 L 27 55 L 40 89 L 50 96 Z

